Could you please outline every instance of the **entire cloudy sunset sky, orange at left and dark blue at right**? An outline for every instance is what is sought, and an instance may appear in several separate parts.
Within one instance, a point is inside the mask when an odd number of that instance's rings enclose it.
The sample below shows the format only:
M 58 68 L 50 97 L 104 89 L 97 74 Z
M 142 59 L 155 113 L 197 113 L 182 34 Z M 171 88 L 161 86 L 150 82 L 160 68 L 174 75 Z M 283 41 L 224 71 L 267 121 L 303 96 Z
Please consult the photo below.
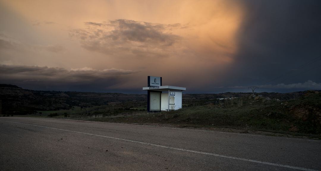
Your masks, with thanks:
M 321 89 L 319 0 L 0 0 L 0 84 L 146 93 Z

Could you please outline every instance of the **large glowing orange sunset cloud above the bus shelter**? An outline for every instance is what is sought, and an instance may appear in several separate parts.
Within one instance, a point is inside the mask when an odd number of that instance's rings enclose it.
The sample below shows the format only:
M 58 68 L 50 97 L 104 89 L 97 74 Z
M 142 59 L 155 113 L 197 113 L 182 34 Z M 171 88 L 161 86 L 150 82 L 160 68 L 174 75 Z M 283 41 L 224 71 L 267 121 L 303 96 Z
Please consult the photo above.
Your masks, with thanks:
M 33 52 L 27 55 L 34 58 L 28 60 L 33 65 L 139 70 L 142 72 L 133 77 L 139 77 L 137 85 L 146 74 L 168 77 L 169 82 L 180 82 L 188 75 L 198 84 L 206 84 L 208 78 L 200 75 L 215 78 L 213 68 L 219 70 L 233 62 L 238 48 L 236 34 L 243 19 L 241 4 L 226 0 L 0 1 L 29 22 L 43 43 L 36 46 L 56 45 L 48 50 L 64 50 Z M 116 21 L 117 25 L 105 27 Z M 122 27 L 127 28 L 120 28 L 119 21 L 126 21 Z M 74 37 L 69 35 L 71 30 Z M 25 56 L 10 58 L 21 61 Z

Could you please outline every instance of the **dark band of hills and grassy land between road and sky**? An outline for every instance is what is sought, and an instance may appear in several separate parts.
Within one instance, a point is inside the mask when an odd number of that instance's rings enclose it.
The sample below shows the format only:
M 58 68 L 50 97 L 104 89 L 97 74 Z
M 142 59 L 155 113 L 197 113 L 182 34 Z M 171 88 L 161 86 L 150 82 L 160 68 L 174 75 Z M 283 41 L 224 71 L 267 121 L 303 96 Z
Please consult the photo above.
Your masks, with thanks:
M 16 86 L 0 90 L 2 116 L 321 135 L 321 91 L 184 94 L 182 109 L 147 113 L 146 95 L 41 92 Z

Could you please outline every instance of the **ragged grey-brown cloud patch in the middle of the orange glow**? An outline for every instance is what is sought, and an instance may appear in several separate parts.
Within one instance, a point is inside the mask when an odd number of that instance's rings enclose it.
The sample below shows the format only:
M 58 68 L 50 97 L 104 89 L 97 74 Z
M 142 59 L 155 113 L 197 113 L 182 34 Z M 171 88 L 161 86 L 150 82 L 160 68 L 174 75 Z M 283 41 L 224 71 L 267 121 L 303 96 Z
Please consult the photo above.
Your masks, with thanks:
M 70 31 L 70 36 L 80 40 L 82 47 L 104 54 L 130 53 L 155 54 L 162 57 L 164 47 L 179 40 L 171 34 L 173 28 L 187 27 L 181 24 L 154 24 L 133 20 L 113 20 L 104 23 L 86 22 L 87 29 Z

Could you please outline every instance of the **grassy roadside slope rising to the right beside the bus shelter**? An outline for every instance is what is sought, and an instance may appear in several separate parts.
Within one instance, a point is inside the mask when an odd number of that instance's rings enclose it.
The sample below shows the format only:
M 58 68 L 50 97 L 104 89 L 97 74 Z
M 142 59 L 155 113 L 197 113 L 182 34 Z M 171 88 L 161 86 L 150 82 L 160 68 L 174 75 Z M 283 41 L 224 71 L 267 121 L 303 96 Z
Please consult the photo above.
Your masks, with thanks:
M 242 101 L 242 105 L 239 105 Z M 321 134 L 321 94 L 307 93 L 297 100 L 266 101 L 248 97 L 231 99 L 221 105 L 206 105 L 178 111 L 89 118 L 93 121 L 169 123 L 180 125 L 294 131 Z M 289 130 L 290 129 L 290 130 Z

